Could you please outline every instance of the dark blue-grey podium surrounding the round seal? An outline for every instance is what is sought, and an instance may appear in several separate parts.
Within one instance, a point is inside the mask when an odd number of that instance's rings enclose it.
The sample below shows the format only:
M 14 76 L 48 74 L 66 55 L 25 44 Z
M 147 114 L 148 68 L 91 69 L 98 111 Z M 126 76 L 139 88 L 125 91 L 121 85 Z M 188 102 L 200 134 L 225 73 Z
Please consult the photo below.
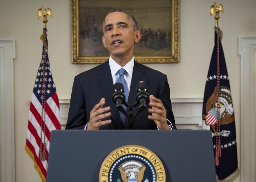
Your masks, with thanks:
M 209 130 L 52 131 L 46 181 L 98 182 L 104 159 L 126 145 L 154 152 L 165 168 L 166 182 L 216 181 Z

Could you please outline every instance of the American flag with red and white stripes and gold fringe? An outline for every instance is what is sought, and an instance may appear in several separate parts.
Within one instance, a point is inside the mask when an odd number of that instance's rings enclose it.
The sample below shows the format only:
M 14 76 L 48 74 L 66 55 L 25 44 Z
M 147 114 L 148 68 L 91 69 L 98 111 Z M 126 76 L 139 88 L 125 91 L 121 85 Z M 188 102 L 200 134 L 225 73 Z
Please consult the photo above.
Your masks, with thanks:
M 46 33 L 44 28 L 41 36 L 43 54 L 30 102 L 25 146 L 43 182 L 46 181 L 51 131 L 61 129 L 59 99 L 50 71 Z

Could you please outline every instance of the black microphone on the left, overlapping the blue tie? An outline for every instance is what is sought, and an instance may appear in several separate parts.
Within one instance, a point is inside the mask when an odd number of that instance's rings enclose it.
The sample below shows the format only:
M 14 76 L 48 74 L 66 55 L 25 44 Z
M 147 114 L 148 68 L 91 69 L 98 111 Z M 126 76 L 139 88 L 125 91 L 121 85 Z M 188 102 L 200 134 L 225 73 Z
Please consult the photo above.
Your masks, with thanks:
M 113 90 L 113 102 L 116 104 L 117 110 L 121 111 L 123 109 L 123 103 L 125 102 L 125 95 L 123 90 L 123 85 L 121 83 L 116 83 Z

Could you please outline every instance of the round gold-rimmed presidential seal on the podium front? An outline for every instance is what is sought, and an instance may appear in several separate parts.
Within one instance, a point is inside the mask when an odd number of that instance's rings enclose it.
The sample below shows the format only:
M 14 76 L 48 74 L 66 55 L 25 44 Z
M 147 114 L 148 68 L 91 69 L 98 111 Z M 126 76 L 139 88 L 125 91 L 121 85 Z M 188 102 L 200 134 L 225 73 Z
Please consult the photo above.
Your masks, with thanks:
M 115 149 L 103 161 L 100 182 L 165 182 L 165 169 L 151 150 L 126 145 Z

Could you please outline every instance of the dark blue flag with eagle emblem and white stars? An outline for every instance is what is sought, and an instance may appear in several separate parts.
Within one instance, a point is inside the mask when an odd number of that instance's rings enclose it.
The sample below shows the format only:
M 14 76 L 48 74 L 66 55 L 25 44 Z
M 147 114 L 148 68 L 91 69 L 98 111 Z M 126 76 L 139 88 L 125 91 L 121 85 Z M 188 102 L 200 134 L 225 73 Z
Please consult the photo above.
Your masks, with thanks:
M 206 78 L 203 101 L 203 125 L 212 131 L 217 181 L 233 181 L 237 166 L 236 126 L 233 100 L 220 41 L 215 28 L 215 46 Z

